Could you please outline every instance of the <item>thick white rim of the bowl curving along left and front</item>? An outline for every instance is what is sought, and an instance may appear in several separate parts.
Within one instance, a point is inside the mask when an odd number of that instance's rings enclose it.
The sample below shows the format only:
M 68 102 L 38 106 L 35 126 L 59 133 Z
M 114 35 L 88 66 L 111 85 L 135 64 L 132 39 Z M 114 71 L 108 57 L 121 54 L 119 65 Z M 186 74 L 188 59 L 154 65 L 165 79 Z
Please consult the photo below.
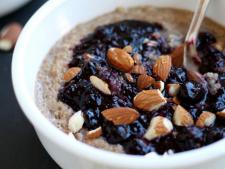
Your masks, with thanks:
M 57 146 L 63 148 L 67 152 L 71 152 L 75 156 L 77 155 L 98 164 L 105 164 L 114 167 L 188 167 L 191 165 L 204 163 L 225 154 L 225 149 L 221 148 L 225 145 L 225 139 L 217 141 L 203 148 L 181 152 L 171 156 L 156 156 L 154 158 L 148 158 L 145 156 L 118 154 L 94 148 L 80 141 L 76 141 L 75 139 L 73 140 L 65 133 L 60 131 L 57 127 L 55 127 L 40 112 L 36 104 L 32 101 L 33 99 L 26 88 L 25 75 L 23 73 L 23 69 L 21 68 L 25 66 L 23 62 L 23 56 L 25 56 L 24 49 L 26 49 L 26 44 L 28 44 L 29 40 L 31 39 L 30 37 L 32 37 L 33 27 L 35 27 L 35 25 L 41 24 L 41 21 L 48 14 L 50 14 L 53 10 L 56 10 L 66 1 L 67 0 L 50 0 L 47 1 L 40 9 L 38 9 L 25 25 L 13 53 L 11 69 L 14 92 L 25 116 L 38 132 L 43 134 L 47 139 L 55 143 Z M 20 76 L 18 76 L 18 74 Z M 39 123 L 40 121 L 41 123 Z M 57 138 L 60 138 L 60 140 Z

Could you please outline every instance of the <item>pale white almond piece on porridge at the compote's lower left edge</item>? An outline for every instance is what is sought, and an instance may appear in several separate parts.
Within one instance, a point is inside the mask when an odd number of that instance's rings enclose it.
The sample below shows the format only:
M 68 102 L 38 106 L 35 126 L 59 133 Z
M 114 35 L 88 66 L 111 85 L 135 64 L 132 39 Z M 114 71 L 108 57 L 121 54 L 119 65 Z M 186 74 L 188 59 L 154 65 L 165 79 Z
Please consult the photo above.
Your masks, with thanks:
M 84 117 L 81 111 L 74 113 L 68 122 L 68 128 L 72 133 L 77 133 L 80 129 L 82 129 L 84 124 Z

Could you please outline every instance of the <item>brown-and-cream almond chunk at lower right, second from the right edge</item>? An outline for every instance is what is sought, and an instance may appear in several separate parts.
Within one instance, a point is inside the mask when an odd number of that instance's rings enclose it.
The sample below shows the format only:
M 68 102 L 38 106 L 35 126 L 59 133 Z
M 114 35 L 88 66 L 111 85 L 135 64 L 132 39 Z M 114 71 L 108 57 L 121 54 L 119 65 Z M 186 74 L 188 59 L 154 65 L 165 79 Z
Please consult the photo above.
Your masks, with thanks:
M 211 112 L 203 111 L 196 121 L 196 126 L 209 127 L 214 124 L 215 120 L 216 120 L 215 114 Z

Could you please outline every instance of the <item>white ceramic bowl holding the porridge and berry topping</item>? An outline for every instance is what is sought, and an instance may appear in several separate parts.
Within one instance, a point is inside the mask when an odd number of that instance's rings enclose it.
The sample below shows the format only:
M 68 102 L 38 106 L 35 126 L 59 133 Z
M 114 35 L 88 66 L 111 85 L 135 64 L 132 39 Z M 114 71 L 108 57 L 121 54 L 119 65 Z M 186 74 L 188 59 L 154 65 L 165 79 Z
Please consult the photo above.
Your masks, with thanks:
M 117 6 L 153 4 L 192 10 L 196 0 L 50 0 L 24 27 L 16 45 L 12 78 L 16 97 L 52 158 L 65 169 L 222 169 L 225 140 L 172 156 L 146 158 L 95 149 L 70 139 L 38 110 L 34 84 L 48 50 L 76 24 L 109 12 Z M 225 25 L 225 1 L 213 0 L 208 16 Z M 185 19 L 185 18 L 184 18 Z

